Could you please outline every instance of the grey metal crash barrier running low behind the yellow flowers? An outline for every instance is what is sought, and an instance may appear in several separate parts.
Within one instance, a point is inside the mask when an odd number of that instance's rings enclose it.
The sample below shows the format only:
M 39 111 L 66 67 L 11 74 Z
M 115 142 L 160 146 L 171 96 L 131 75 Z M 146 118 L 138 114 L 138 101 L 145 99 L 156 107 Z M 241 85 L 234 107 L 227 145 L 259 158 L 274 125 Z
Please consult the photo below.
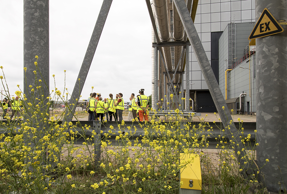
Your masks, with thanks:
M 7 121 L 3 121 L 3 122 L 7 122 Z M 11 121 L 10 121 L 11 122 Z M 182 122 L 182 124 L 180 124 L 180 126 L 184 127 L 184 123 L 186 122 Z M 58 122 L 58 124 L 62 124 L 62 122 Z M 103 122 L 101 123 L 100 121 L 72 121 L 72 124 L 77 126 L 75 128 L 72 129 L 72 132 L 77 132 L 83 136 L 89 137 L 89 138 L 93 138 L 94 139 L 94 147 L 95 147 L 95 161 L 96 160 L 100 160 L 100 149 L 101 149 L 101 139 L 104 137 L 105 133 L 108 133 L 110 127 L 112 126 L 113 129 L 115 131 L 119 131 L 119 124 L 121 124 L 121 122 L 118 121 L 107 121 L 107 122 Z M 121 127 L 121 133 L 125 133 L 128 129 L 130 128 L 130 133 L 132 134 L 129 138 L 131 141 L 135 140 L 136 138 L 139 138 L 139 140 L 141 140 L 141 138 L 144 136 L 144 131 L 143 128 L 141 127 L 141 125 L 143 126 L 148 126 L 150 124 L 150 122 L 132 122 L 132 121 L 125 121 L 124 122 L 124 126 L 120 126 Z M 162 122 L 161 124 L 164 124 L 164 122 Z M 201 135 L 205 135 L 208 136 L 210 135 L 210 137 L 207 137 L 207 140 L 209 141 L 209 147 L 210 149 L 216 149 L 216 145 L 217 145 L 217 140 L 215 139 L 215 137 L 218 136 L 224 136 L 224 138 L 226 139 L 227 142 L 229 142 L 229 138 L 226 135 L 226 132 L 223 132 L 224 126 L 221 122 L 192 122 L 192 127 L 195 128 L 205 128 L 206 130 L 203 130 L 201 132 L 197 132 L 197 133 L 201 133 Z M 239 123 L 234 123 L 235 127 L 237 129 L 240 128 L 240 124 Z M 80 126 L 85 126 L 87 125 L 88 127 L 84 127 L 84 129 L 82 129 Z M 242 127 L 244 127 L 244 134 L 243 137 L 247 137 L 248 134 L 250 134 L 250 142 L 251 142 L 251 147 L 254 147 L 255 144 L 255 133 L 254 130 L 256 130 L 256 123 L 255 122 L 244 122 L 242 124 Z M 136 130 L 135 130 L 136 128 Z M 212 128 L 212 130 L 207 131 L 207 129 Z M 18 133 L 18 130 L 20 129 L 20 126 L 16 126 L 15 127 L 15 135 Z M 96 132 L 96 136 L 94 136 L 92 134 L 92 131 Z M 102 132 L 102 133 L 101 133 Z M 4 125 L 2 125 L 0 127 L 0 133 L 4 133 L 5 135 L 8 134 L 7 129 L 4 128 Z M 69 130 L 70 133 L 70 130 Z M 71 135 L 71 134 L 70 134 Z M 110 137 L 108 138 L 109 141 L 111 141 L 112 145 L 116 145 L 116 143 L 118 141 L 115 140 L 116 135 L 110 135 Z M 5 138 L 5 137 L 4 137 Z M 1 141 L 4 141 L 4 138 L 2 138 Z M 153 135 L 153 138 L 156 139 L 158 138 L 157 136 Z M 83 142 L 85 142 L 85 139 L 83 137 L 79 137 L 77 139 L 74 140 L 74 144 L 83 144 Z M 92 144 L 92 143 L 90 143 Z M 248 147 L 247 147 L 248 148 Z

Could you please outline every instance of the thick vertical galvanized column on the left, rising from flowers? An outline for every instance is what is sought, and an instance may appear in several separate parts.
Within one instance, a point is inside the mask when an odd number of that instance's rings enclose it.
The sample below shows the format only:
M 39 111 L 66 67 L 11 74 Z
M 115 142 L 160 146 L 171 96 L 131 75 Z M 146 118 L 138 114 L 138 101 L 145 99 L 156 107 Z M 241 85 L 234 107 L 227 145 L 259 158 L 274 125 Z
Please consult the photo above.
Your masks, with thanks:
M 38 56 L 38 64 L 35 56 Z M 50 79 L 49 79 L 49 0 L 43 0 L 41 3 L 38 1 L 24 0 L 24 95 L 27 100 L 24 103 L 33 102 L 36 98 L 41 99 L 44 104 L 39 108 L 39 116 L 35 117 L 33 123 L 38 123 L 36 139 L 31 141 L 33 133 L 25 134 L 25 145 L 35 149 L 34 141 L 39 141 L 43 136 L 45 123 L 40 113 L 44 113 L 45 117 L 49 119 L 45 113 L 49 113 L 47 97 L 50 96 Z M 36 71 L 36 75 L 33 71 Z M 41 79 L 42 82 L 38 80 Z M 44 84 L 42 84 L 44 83 Z M 32 93 L 29 85 L 35 89 Z M 41 89 L 37 86 L 41 86 Z M 37 87 L 37 89 L 36 89 Z M 44 95 L 42 97 L 42 95 Z M 8 97 L 10 98 L 10 96 Z M 36 105 L 36 104 L 35 104 Z M 24 122 L 26 119 L 31 119 L 32 113 L 27 112 L 24 114 Z M 31 121 L 31 120 L 30 120 Z M 29 122 L 30 122 L 29 121 Z M 36 127 L 36 126 L 33 126 Z M 46 157 L 43 155 L 43 157 Z M 29 158 L 29 157 L 28 157 Z M 30 157 L 32 158 L 32 157 Z M 34 160 L 35 161 L 35 160 Z M 27 159 L 26 162 L 33 162 L 33 159 Z M 46 161 L 47 162 L 47 161 Z M 48 161 L 50 162 L 50 161 Z M 46 163 L 47 164 L 47 163 Z M 29 170 L 34 170 L 32 166 L 28 167 Z

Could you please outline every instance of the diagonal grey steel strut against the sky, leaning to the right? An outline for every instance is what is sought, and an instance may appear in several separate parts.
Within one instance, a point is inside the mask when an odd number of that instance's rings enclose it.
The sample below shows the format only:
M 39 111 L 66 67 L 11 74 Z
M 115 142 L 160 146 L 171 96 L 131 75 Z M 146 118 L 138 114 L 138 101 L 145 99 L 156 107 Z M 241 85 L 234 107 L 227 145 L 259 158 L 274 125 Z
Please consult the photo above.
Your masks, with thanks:
M 73 118 L 73 115 L 76 109 L 76 104 L 78 103 L 81 92 L 83 90 L 83 86 L 85 84 L 87 74 L 89 72 L 96 48 L 98 46 L 98 42 L 100 40 L 101 33 L 104 28 L 104 24 L 106 22 L 111 4 L 112 4 L 112 0 L 103 1 L 103 4 L 100 10 L 98 19 L 96 21 L 94 31 L 92 33 L 80 72 L 78 74 L 78 78 L 75 83 L 74 90 L 72 92 L 72 96 L 70 98 L 69 107 L 67 107 L 67 111 L 65 113 L 65 118 L 63 119 L 63 121 L 67 121 L 67 122 L 72 121 L 72 118 Z

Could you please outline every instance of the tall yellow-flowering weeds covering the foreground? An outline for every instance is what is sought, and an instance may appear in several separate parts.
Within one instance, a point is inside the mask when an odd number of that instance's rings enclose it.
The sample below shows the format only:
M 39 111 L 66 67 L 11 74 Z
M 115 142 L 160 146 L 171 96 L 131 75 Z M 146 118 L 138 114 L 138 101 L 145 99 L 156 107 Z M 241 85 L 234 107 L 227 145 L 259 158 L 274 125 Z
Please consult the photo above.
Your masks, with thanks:
M 194 157 L 200 157 L 202 193 L 241 194 L 248 193 L 250 187 L 255 193 L 267 192 L 257 181 L 260 169 L 243 177 L 244 167 L 234 151 L 239 144 L 226 138 L 231 133 L 229 124 L 218 126 L 221 132 L 215 136 L 204 119 L 195 125 L 176 107 L 165 120 L 151 109 L 150 122 L 133 120 L 132 125 L 104 121 L 93 127 L 92 122 L 63 121 L 66 111 L 55 114 L 49 107 L 51 101 L 63 101 L 68 107 L 70 94 L 55 84 L 54 90 L 44 95 L 49 88 L 37 73 L 37 58 L 35 84 L 27 86 L 25 95 L 20 88 L 15 92 L 21 100 L 21 116 L 10 120 L 7 115 L 7 121 L 1 121 L 0 193 L 174 194 L 183 184 L 180 170 L 192 164 Z M 5 90 L 2 94 L 14 100 L 4 72 L 0 78 Z M 169 98 L 173 104 L 173 96 Z M 242 124 L 240 121 L 240 150 L 251 147 L 243 158 L 247 165 L 256 159 L 258 144 L 251 146 L 251 135 L 244 135 Z M 217 153 L 209 154 L 209 141 L 217 141 Z M 190 155 L 189 160 L 181 160 L 180 153 Z

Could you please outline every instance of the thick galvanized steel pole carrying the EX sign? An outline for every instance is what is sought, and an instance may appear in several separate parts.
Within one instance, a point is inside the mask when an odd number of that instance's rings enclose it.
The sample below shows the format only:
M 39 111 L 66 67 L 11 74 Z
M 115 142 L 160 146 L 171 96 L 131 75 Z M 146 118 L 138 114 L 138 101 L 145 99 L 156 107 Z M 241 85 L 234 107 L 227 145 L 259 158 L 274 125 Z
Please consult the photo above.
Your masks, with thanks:
M 286 3 L 257 0 L 256 20 L 267 8 L 286 22 Z M 271 192 L 287 189 L 287 27 L 282 27 L 282 33 L 256 39 L 257 164 Z

